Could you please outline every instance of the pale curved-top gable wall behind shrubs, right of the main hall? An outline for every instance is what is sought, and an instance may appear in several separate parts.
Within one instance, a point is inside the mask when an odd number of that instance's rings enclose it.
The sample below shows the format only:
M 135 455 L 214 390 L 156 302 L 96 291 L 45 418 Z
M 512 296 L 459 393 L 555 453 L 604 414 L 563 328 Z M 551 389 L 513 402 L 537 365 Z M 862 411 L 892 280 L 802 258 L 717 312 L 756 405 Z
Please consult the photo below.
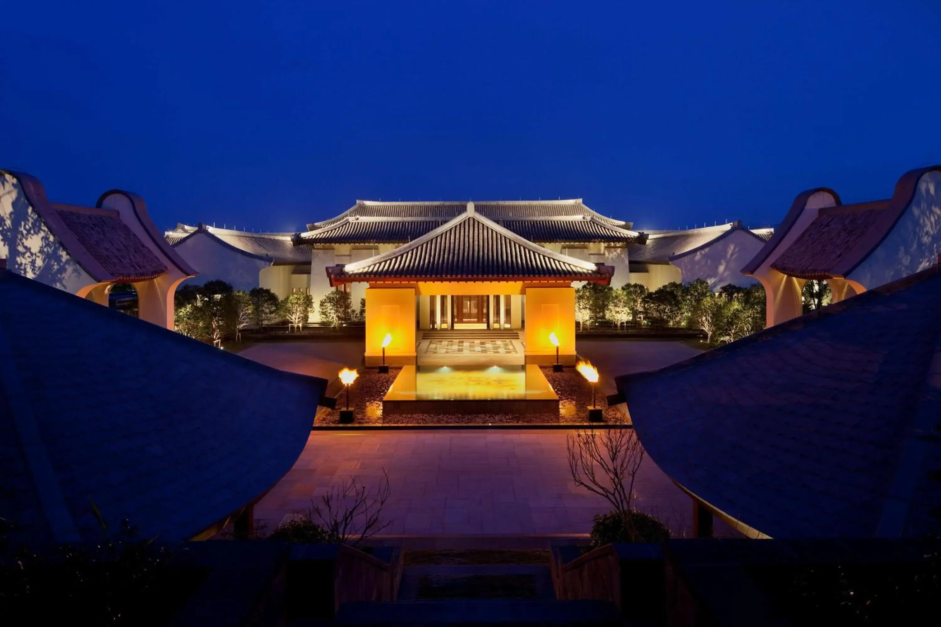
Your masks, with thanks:
M 731 283 L 745 288 L 755 285 L 758 280 L 742 274 L 746 263 L 755 259 L 764 242 L 749 235 L 742 229 L 734 230 L 718 242 L 673 260 L 679 268 L 683 283 L 690 283 L 697 278 L 709 281 L 712 290 L 718 290 Z

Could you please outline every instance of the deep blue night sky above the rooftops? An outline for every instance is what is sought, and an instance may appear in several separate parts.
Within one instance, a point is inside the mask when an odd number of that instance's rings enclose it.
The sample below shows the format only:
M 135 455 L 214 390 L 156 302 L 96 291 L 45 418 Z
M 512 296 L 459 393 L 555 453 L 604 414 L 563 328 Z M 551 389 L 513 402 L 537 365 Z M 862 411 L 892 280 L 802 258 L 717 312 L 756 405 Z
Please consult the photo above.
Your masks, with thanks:
M 715 7 L 713 4 L 721 5 Z M 941 3 L 7 3 L 0 166 L 159 227 L 356 198 L 774 224 L 941 163 Z

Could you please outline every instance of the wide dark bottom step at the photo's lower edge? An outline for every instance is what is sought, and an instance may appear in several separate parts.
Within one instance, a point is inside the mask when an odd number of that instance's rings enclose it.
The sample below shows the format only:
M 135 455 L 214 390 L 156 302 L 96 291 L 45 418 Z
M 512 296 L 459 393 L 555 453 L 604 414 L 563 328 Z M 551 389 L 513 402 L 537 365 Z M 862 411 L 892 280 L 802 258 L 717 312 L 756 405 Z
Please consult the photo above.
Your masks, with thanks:
M 620 625 L 609 601 L 448 599 L 343 603 L 337 625 Z

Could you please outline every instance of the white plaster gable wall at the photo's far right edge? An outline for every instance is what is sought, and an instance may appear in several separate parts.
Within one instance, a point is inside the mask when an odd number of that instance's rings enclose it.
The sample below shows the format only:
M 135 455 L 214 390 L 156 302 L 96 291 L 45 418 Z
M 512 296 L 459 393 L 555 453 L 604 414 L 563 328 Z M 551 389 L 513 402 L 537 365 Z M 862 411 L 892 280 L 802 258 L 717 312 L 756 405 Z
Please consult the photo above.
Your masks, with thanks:
M 918 180 L 911 204 L 883 243 L 847 277 L 867 290 L 924 270 L 941 254 L 941 172 Z

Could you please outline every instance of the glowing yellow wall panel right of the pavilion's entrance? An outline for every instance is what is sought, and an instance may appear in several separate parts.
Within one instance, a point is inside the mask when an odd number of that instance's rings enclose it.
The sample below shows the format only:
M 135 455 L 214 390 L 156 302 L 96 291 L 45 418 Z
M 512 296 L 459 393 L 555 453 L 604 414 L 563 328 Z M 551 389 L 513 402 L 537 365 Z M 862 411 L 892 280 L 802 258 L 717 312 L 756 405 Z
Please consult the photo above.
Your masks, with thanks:
M 555 347 L 550 333 L 559 338 L 559 361 L 575 363 L 575 289 L 526 289 L 526 363 L 551 364 Z

